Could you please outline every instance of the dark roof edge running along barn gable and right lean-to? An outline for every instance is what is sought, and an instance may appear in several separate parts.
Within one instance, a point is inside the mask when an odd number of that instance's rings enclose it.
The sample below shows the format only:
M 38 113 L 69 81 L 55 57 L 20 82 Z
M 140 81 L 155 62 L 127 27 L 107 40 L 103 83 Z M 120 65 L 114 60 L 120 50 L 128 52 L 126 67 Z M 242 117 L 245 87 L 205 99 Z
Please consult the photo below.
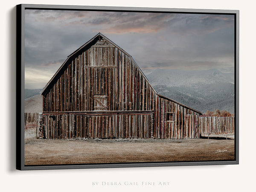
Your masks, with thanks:
M 110 44 L 112 44 L 114 47 L 116 47 L 117 49 L 119 49 L 120 51 L 122 51 L 123 53 L 125 53 L 126 55 L 128 55 L 129 58 L 131 58 L 131 61 L 137 66 L 138 70 L 140 71 L 140 73 L 142 74 L 142 76 L 144 77 L 145 81 L 148 82 L 149 86 L 152 88 L 152 90 L 154 90 L 154 92 L 157 94 L 157 96 L 159 96 L 160 98 L 163 99 L 167 99 L 169 101 L 175 102 L 178 105 L 181 105 L 185 108 L 188 108 L 192 111 L 195 111 L 197 113 L 202 114 L 200 111 L 197 111 L 195 109 L 189 108 L 186 105 L 183 105 L 173 99 L 167 98 L 165 96 L 162 96 L 160 94 L 157 93 L 157 91 L 154 89 L 154 87 L 152 87 L 152 85 L 150 84 L 150 82 L 148 81 L 148 79 L 146 78 L 145 74 L 143 73 L 143 71 L 140 69 L 140 67 L 138 66 L 138 64 L 134 61 L 134 59 L 132 58 L 132 56 L 130 54 L 128 54 L 125 50 L 123 50 L 121 47 L 119 47 L 118 45 L 116 45 L 113 41 L 111 41 L 109 38 L 107 38 L 105 35 L 102 35 L 100 32 L 97 33 L 93 38 L 91 38 L 89 41 L 87 41 L 85 44 L 83 44 L 81 47 L 79 47 L 78 49 L 76 49 L 73 53 L 71 53 L 70 55 L 67 56 L 67 59 L 64 61 L 64 63 L 61 65 L 61 67 L 57 70 L 57 72 L 54 74 L 54 76 L 52 76 L 52 79 L 50 79 L 50 81 L 45 85 L 45 87 L 41 90 L 41 95 L 44 95 L 45 93 L 47 93 L 47 90 L 49 90 L 49 87 L 51 87 L 52 84 L 54 84 L 54 80 L 58 79 L 58 74 L 61 73 L 61 71 L 64 69 L 64 66 L 68 64 L 68 61 L 70 59 L 72 59 L 73 57 L 75 57 L 80 51 L 83 51 L 87 48 L 90 48 L 93 44 L 95 44 L 100 38 L 105 39 L 106 41 L 108 41 Z

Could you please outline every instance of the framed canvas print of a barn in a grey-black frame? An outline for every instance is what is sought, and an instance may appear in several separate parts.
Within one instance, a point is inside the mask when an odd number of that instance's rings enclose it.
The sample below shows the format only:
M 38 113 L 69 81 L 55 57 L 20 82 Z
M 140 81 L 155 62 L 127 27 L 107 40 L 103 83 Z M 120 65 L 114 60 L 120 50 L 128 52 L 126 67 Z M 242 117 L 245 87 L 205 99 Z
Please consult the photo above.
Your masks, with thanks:
M 17 169 L 239 163 L 239 11 L 17 6 Z

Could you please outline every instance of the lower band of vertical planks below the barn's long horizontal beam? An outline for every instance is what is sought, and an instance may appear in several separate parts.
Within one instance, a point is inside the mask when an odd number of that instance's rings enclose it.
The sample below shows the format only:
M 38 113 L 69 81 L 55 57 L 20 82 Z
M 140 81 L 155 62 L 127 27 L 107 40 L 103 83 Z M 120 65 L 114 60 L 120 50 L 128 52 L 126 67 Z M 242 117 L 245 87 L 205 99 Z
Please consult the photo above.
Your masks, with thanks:
M 44 115 L 49 139 L 67 138 L 150 138 L 150 114 Z

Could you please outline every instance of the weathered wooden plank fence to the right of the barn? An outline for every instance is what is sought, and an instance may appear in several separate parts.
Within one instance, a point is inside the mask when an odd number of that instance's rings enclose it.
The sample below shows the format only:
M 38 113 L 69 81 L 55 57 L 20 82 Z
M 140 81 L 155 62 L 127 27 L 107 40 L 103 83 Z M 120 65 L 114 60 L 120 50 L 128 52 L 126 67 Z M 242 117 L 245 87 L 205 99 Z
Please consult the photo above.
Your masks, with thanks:
M 235 117 L 205 116 L 199 117 L 200 134 L 203 137 L 233 137 Z

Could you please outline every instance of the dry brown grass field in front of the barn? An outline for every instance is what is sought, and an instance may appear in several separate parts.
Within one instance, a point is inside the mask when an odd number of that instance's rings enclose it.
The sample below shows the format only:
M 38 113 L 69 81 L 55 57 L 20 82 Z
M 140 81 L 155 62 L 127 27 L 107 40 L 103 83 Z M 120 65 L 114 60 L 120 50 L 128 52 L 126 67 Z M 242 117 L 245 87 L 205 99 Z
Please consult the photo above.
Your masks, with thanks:
M 234 140 L 80 139 L 25 142 L 25 165 L 202 160 L 234 160 Z

